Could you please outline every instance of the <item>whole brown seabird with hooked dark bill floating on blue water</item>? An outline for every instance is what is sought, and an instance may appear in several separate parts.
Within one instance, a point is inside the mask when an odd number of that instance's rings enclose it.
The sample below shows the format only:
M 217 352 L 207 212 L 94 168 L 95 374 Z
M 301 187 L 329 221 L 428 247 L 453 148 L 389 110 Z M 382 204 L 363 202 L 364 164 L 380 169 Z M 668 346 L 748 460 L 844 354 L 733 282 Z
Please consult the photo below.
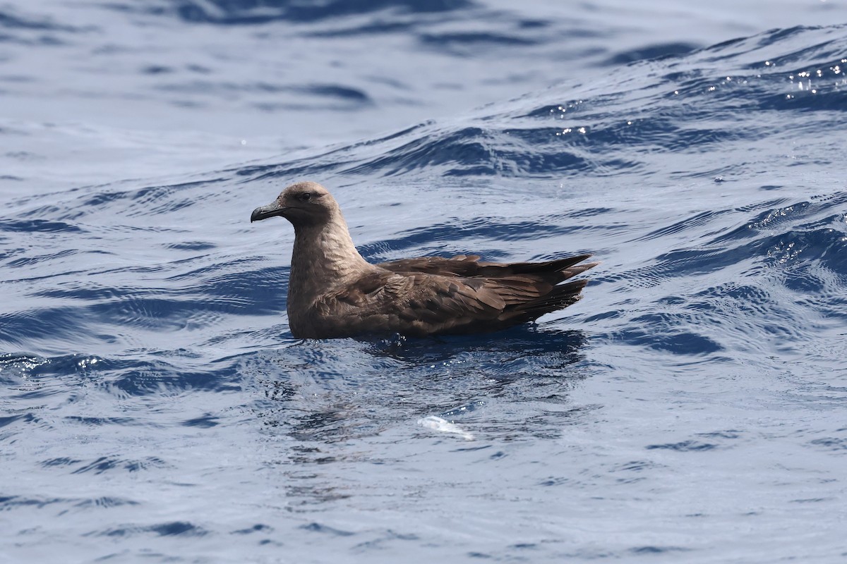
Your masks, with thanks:
M 332 194 L 314 182 L 291 184 L 253 210 L 250 221 L 273 216 L 294 226 L 288 284 L 294 337 L 497 331 L 573 304 L 588 281 L 560 282 L 599 264 L 578 264 L 591 255 L 512 263 L 458 255 L 373 265 L 353 245 Z

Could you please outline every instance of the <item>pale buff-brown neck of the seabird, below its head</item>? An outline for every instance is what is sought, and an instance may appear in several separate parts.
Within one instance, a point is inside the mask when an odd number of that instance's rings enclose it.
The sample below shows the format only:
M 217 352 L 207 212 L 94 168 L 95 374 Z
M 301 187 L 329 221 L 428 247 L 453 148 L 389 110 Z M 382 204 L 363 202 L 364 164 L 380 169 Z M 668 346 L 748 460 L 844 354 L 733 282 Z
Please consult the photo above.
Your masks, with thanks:
M 372 267 L 359 255 L 343 216 L 335 216 L 324 225 L 295 227 L 289 304 L 311 303 L 318 295 Z

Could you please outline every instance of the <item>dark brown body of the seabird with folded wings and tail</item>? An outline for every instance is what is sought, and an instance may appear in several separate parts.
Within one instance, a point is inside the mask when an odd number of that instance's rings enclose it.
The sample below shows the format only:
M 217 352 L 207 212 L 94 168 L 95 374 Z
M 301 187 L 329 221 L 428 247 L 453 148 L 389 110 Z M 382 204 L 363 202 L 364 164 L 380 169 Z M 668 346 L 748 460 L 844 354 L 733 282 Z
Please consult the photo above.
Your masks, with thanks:
M 595 266 L 578 264 L 589 256 L 493 263 L 459 255 L 381 263 L 326 293 L 296 333 L 319 338 L 498 331 L 578 301 L 587 281 L 560 282 Z

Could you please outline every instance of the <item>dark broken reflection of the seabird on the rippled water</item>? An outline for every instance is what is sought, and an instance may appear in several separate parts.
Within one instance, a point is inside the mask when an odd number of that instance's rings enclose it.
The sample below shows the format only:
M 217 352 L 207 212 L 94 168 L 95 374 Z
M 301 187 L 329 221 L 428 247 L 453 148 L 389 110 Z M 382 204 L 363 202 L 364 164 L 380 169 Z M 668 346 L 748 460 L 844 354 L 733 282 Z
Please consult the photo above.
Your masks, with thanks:
M 255 413 L 275 446 L 268 464 L 280 466 L 287 497 L 308 510 L 351 495 L 327 476 L 352 463 L 396 462 L 401 443 L 413 451 L 434 441 L 468 449 L 550 440 L 584 411 L 568 394 L 589 374 L 586 342 L 584 331 L 524 326 L 474 336 L 307 340 L 261 353 L 248 365 L 261 397 Z M 433 418 L 461 432 L 419 424 Z

